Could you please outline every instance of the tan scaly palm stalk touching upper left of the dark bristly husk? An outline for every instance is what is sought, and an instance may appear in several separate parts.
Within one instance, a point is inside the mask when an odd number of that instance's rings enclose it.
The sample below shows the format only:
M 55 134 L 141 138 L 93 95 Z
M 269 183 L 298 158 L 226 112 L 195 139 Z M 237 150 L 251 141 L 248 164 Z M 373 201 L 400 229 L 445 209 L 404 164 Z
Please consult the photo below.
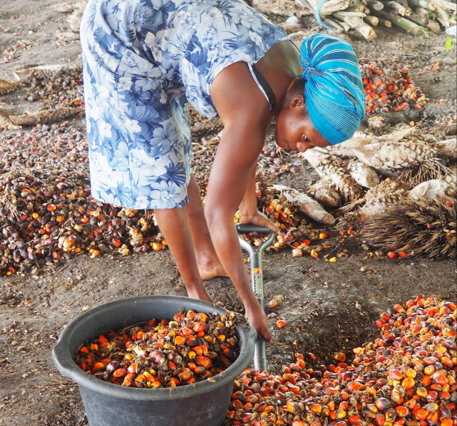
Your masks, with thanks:
M 387 178 L 365 194 L 365 204 L 359 210 L 362 218 L 378 215 L 402 200 L 410 186 L 398 179 Z

